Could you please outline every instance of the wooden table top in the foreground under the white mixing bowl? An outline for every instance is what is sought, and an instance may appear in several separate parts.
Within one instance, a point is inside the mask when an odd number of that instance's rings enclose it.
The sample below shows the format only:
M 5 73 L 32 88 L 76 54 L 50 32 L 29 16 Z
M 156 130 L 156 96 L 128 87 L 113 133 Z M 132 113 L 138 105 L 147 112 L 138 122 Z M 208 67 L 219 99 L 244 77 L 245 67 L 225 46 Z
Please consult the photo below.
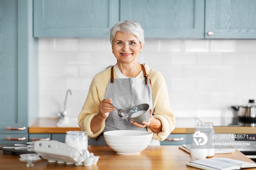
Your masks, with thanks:
M 33 167 L 26 167 L 25 162 L 20 162 L 20 156 L 14 154 L 3 154 L 0 151 L 1 170 L 27 170 L 27 169 L 47 169 L 47 170 L 196 170 L 186 166 L 192 161 L 190 154 L 178 148 L 178 146 L 148 146 L 137 155 L 119 155 L 108 146 L 88 146 L 89 152 L 95 156 L 100 156 L 97 165 L 75 166 L 58 163 L 48 163 L 46 159 L 34 162 Z M 230 159 L 252 162 L 244 154 L 236 150 L 230 154 L 215 154 L 214 157 L 224 157 Z M 246 170 L 256 170 L 250 168 Z

